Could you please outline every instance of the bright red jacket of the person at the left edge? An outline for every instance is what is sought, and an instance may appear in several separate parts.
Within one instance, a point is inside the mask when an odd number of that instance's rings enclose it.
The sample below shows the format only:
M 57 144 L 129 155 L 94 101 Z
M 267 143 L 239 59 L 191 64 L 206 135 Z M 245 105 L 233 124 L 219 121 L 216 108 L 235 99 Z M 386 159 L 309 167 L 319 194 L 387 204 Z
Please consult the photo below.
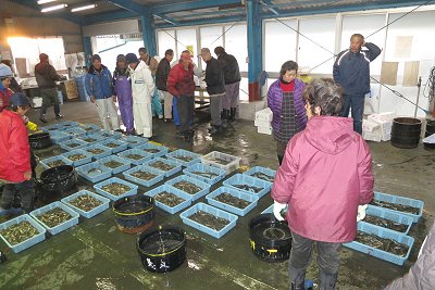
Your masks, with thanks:
M 11 111 L 0 113 L 0 179 L 23 182 L 30 168 L 30 147 L 23 118 Z

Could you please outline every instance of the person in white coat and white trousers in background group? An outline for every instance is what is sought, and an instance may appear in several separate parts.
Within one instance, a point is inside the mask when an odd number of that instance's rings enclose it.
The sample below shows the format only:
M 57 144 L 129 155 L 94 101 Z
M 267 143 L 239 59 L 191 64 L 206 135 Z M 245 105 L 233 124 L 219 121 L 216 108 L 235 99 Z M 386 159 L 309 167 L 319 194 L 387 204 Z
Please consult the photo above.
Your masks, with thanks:
M 154 81 L 151 71 L 144 61 L 139 61 L 135 53 L 125 55 L 130 70 L 133 92 L 133 116 L 136 123 L 136 133 L 146 138 L 152 137 L 151 97 L 154 91 Z

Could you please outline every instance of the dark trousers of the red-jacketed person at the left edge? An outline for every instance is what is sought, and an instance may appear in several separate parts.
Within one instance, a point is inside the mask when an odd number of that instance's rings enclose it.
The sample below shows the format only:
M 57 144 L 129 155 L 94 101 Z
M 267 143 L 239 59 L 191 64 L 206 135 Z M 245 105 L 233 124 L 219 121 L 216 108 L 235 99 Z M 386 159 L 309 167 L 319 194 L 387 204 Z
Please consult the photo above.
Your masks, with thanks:
M 3 188 L 3 194 L 1 196 L 0 205 L 4 210 L 10 210 L 12 207 L 15 191 L 18 192 L 21 197 L 21 205 L 26 213 L 34 210 L 35 190 L 34 180 L 26 180 L 21 184 L 7 184 Z

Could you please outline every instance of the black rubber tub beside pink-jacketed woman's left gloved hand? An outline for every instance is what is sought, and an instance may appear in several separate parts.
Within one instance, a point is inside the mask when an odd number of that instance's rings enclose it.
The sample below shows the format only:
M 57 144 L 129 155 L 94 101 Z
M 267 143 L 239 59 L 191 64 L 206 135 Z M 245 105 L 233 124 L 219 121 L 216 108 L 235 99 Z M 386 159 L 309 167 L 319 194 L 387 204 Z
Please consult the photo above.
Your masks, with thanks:
M 290 256 L 287 222 L 277 220 L 273 214 L 261 214 L 249 222 L 249 242 L 252 253 L 265 262 L 283 262 Z

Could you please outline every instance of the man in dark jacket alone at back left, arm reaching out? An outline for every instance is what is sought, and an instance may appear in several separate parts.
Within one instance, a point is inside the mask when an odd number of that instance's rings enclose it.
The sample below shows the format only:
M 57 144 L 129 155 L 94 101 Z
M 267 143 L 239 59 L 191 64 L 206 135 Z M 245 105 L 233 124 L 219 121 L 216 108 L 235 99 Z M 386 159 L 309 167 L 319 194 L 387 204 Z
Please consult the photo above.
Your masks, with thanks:
M 42 106 L 40 109 L 39 119 L 47 123 L 47 108 L 51 104 L 54 106 L 55 118 L 62 118 L 61 108 L 59 105 L 58 91 L 55 81 L 66 80 L 66 77 L 58 75 L 54 67 L 48 62 L 46 53 L 39 54 L 39 63 L 35 65 L 35 77 L 42 98 Z

